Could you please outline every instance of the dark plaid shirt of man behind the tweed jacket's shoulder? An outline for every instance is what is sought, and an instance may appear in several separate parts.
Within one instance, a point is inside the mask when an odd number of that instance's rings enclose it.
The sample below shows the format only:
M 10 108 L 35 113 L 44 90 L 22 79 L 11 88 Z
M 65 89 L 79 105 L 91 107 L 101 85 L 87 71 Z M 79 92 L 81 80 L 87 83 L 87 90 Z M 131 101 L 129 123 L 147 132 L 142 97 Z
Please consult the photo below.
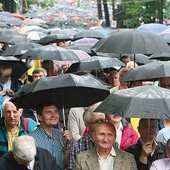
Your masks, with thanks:
M 70 151 L 68 170 L 73 169 L 74 162 L 75 162 L 76 157 L 79 153 L 86 151 L 94 146 L 95 146 L 95 144 L 94 144 L 92 138 L 88 134 L 81 137 L 78 141 L 74 142 L 72 145 L 71 151 Z

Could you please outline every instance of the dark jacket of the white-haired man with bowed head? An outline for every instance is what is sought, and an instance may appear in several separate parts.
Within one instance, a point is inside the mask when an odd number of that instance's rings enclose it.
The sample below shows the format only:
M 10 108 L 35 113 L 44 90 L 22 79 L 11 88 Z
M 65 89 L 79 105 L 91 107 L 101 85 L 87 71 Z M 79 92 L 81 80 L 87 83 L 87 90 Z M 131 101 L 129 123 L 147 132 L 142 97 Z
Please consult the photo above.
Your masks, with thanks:
M 19 165 L 14 159 L 13 152 L 9 151 L 0 158 L 1 170 L 27 170 L 26 166 Z M 59 170 L 55 158 L 46 149 L 37 147 L 33 170 Z

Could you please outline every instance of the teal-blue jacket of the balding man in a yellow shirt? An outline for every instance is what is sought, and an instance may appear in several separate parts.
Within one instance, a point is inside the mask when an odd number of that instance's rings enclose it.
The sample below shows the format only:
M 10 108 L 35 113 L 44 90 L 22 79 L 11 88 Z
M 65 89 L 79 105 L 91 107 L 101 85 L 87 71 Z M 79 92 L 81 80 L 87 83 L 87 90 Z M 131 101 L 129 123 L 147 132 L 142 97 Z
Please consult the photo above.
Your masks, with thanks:
M 28 118 L 28 130 L 24 129 L 24 118 L 21 117 L 21 123 L 19 127 L 19 135 L 26 135 L 33 131 L 37 126 L 37 123 Z M 4 117 L 0 118 L 0 157 L 8 152 L 8 133 L 4 123 Z

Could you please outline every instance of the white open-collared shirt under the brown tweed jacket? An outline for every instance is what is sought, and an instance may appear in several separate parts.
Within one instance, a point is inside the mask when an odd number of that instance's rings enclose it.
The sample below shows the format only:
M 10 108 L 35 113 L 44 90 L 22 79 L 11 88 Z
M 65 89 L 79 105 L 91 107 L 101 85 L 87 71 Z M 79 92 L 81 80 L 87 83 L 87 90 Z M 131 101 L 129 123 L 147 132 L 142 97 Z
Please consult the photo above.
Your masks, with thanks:
M 101 158 L 98 153 L 97 155 L 98 155 L 100 170 L 114 170 L 113 165 L 114 165 L 114 157 L 116 156 L 116 152 L 113 147 L 106 159 Z

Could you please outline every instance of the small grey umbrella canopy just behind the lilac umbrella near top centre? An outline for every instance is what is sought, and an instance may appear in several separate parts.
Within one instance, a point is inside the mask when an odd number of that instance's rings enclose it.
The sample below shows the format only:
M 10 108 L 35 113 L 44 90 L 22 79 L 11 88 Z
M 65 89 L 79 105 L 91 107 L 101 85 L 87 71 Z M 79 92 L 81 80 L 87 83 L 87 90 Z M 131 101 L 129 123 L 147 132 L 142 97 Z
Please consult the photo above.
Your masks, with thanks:
M 104 35 L 95 30 L 84 30 L 79 32 L 74 36 L 74 40 L 81 39 L 81 38 L 96 38 L 101 39 L 104 38 Z

